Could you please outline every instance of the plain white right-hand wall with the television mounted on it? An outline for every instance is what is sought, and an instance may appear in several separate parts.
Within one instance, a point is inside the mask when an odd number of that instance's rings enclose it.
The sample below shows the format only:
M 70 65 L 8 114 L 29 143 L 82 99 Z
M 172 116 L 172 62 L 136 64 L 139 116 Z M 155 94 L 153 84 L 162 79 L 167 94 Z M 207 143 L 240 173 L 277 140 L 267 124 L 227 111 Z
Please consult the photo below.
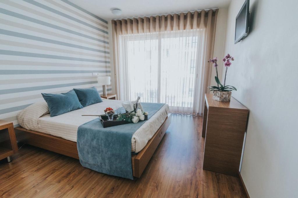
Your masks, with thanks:
M 241 175 L 251 198 L 298 197 L 298 1 L 251 0 L 250 33 L 234 45 L 243 2 L 229 6 L 224 50 L 232 96 L 250 110 Z

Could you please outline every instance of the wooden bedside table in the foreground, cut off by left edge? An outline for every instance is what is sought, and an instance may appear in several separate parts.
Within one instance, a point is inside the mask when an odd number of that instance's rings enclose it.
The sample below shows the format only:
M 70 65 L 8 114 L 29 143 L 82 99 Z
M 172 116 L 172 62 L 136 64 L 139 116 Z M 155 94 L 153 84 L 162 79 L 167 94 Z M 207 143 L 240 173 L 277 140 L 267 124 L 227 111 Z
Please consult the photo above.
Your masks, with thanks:
M 12 122 L 0 120 L 0 160 L 7 158 L 10 162 L 11 155 L 18 152 L 15 130 Z

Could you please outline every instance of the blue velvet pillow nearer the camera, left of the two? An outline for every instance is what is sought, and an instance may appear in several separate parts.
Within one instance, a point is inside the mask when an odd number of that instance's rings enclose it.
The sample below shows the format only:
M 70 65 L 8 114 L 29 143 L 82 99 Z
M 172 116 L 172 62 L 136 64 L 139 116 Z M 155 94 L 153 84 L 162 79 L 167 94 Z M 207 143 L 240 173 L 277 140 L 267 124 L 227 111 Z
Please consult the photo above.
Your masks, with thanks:
M 62 94 L 41 95 L 49 106 L 51 117 L 83 108 L 74 90 Z

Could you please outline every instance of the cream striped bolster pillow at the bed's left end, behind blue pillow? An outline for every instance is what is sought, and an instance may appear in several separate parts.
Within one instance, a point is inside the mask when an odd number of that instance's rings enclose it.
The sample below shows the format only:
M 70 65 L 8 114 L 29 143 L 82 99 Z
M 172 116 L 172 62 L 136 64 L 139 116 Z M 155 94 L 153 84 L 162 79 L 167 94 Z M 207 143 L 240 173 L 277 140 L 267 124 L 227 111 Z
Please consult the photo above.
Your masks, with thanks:
M 39 131 L 38 118 L 48 113 L 50 112 L 46 102 L 36 102 L 18 113 L 18 123 L 25 129 Z

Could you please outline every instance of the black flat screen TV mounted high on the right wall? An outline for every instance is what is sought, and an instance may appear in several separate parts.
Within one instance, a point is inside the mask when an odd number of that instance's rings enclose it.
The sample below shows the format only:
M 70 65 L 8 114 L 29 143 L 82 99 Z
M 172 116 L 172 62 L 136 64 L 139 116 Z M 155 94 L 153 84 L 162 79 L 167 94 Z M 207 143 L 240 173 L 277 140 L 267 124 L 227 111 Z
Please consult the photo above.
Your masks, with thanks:
M 236 17 L 235 44 L 244 39 L 249 31 L 249 0 L 246 0 Z

